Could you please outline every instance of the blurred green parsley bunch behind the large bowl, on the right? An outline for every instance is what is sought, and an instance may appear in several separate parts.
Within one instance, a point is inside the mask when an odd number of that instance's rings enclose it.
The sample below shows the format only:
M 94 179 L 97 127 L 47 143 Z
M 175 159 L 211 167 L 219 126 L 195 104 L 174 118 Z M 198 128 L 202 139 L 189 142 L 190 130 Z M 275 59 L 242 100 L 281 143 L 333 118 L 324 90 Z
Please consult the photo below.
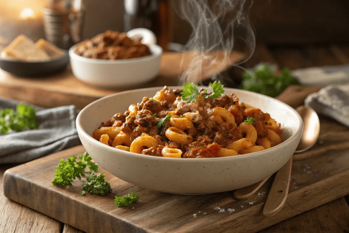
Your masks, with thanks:
M 300 84 L 288 68 L 284 68 L 281 75 L 275 75 L 274 70 L 273 65 L 258 64 L 251 70 L 244 71 L 240 88 L 275 97 L 289 85 Z

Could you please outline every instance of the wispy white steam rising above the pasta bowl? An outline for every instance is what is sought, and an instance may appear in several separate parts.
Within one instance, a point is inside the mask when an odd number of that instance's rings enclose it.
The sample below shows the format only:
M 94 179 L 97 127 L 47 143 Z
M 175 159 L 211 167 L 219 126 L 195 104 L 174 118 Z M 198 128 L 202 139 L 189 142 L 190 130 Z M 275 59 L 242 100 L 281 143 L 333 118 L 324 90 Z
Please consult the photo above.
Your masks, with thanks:
M 182 84 L 198 82 L 203 74 L 213 67 L 215 70 L 227 67 L 230 64 L 230 52 L 237 40 L 244 42 L 248 48 L 244 61 L 251 57 L 255 47 L 255 37 L 245 12 L 246 0 L 179 0 L 172 2 L 175 2 L 174 8 L 179 16 L 188 21 L 193 29 L 186 44 L 186 50 L 195 51 L 195 55 L 180 78 Z M 179 4 L 176 5 L 177 3 Z M 182 59 L 182 65 L 185 62 Z M 222 79 L 224 77 L 214 78 Z

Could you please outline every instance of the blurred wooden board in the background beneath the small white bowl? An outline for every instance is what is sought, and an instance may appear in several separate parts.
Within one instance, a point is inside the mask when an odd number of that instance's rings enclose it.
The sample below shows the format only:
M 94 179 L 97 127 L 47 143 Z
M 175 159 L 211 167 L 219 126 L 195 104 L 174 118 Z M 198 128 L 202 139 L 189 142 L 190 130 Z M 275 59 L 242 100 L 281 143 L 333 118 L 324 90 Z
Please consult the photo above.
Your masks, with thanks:
M 128 89 L 180 85 L 179 77 L 188 68 L 194 55 L 191 52 L 164 52 L 158 77 L 148 83 Z M 226 70 L 244 57 L 243 53 L 237 51 L 231 52 L 227 58 L 224 58 L 223 53 L 217 52 L 217 59 L 213 65 L 208 65 L 207 62 L 202 64 L 201 79 L 205 80 Z M 132 80 L 130 80 L 131 83 Z M 92 101 L 123 90 L 126 89 L 108 90 L 89 86 L 76 79 L 70 67 L 64 73 L 43 78 L 16 77 L 0 69 L 0 96 L 47 108 L 74 104 L 77 109 L 82 109 Z

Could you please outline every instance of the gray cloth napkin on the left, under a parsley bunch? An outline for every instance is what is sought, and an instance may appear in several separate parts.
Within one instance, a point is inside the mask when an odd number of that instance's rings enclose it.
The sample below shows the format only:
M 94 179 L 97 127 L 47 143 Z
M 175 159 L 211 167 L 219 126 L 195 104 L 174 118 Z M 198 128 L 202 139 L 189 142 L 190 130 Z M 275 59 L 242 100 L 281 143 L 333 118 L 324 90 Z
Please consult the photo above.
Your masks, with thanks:
M 0 98 L 0 109 L 20 102 Z M 0 136 L 0 164 L 24 163 L 81 144 L 75 127 L 74 105 L 37 110 L 39 128 Z

